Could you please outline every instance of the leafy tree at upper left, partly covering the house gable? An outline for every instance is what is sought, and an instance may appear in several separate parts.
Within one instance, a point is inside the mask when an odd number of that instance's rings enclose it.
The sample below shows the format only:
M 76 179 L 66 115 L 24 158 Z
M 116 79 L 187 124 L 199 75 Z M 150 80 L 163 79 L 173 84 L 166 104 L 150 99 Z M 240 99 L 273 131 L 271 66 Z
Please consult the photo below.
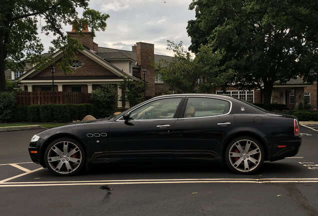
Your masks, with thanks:
M 82 8 L 78 18 L 76 8 Z M 58 67 L 70 72 L 69 66 L 78 49 L 83 49 L 77 39 L 63 32 L 62 25 L 72 24 L 81 33 L 84 24 L 90 27 L 90 34 L 105 30 L 108 14 L 88 8 L 88 0 L 2 0 L 0 7 L 0 91 L 5 91 L 4 70 L 23 69 L 26 62 L 37 63 L 38 68 L 52 62 L 49 57 L 41 57 L 43 44 L 37 36 L 37 25 L 46 35 L 51 32 L 57 38 L 49 52 L 62 49 L 64 56 Z M 84 28 L 85 29 L 85 28 Z

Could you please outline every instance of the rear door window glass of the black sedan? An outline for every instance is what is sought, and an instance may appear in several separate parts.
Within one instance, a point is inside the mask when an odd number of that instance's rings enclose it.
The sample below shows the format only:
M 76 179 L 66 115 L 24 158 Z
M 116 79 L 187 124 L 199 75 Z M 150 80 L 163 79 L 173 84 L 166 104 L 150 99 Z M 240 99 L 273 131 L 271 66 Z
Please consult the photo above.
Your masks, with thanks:
M 226 100 L 204 97 L 189 97 L 183 117 L 207 117 L 225 114 L 230 103 Z

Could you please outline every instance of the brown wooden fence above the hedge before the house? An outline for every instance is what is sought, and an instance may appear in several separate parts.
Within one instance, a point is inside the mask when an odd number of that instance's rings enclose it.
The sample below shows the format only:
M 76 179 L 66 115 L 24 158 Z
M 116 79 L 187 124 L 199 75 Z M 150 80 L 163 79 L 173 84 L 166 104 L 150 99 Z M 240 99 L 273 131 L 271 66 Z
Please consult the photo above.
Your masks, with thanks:
M 64 104 L 91 103 L 91 93 L 68 91 L 31 91 L 15 92 L 16 103 L 19 105 L 33 104 Z

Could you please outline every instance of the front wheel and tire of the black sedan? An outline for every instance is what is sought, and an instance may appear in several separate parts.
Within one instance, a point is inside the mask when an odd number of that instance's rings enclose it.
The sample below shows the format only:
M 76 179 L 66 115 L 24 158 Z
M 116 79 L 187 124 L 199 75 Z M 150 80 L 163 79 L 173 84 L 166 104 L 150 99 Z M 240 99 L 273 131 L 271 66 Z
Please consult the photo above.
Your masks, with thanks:
M 64 137 L 52 141 L 44 153 L 44 162 L 49 171 L 58 176 L 75 175 L 86 163 L 85 150 L 78 141 Z

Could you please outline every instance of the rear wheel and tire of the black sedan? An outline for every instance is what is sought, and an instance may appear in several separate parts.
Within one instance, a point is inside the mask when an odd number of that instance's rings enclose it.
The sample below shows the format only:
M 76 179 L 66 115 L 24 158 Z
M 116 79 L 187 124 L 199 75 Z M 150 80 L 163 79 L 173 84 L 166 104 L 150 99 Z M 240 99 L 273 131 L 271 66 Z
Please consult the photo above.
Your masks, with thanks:
M 249 136 L 233 139 L 225 150 L 227 166 L 232 171 L 240 174 L 256 172 L 262 166 L 264 156 L 262 145 L 259 141 Z

